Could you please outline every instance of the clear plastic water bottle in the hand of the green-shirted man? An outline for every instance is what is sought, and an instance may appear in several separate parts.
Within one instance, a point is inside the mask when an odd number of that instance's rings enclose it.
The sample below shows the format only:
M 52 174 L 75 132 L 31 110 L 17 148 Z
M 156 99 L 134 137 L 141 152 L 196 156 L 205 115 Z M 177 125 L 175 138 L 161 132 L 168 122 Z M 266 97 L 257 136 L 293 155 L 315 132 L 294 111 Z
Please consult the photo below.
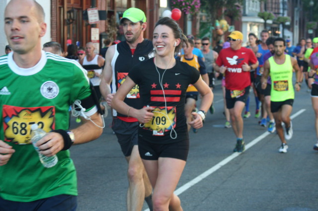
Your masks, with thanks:
M 42 155 L 39 152 L 39 148 L 36 146 L 36 143 L 43 137 L 46 135 L 46 132 L 42 129 L 39 128 L 39 126 L 37 124 L 32 124 L 31 125 L 31 141 L 33 144 L 34 149 L 36 150 L 36 152 L 38 152 L 39 154 L 39 158 L 41 163 L 43 164 L 44 167 L 46 168 L 50 168 L 56 165 L 56 163 L 58 162 L 58 157 L 56 155 L 52 156 L 52 157 L 47 157 L 45 155 Z

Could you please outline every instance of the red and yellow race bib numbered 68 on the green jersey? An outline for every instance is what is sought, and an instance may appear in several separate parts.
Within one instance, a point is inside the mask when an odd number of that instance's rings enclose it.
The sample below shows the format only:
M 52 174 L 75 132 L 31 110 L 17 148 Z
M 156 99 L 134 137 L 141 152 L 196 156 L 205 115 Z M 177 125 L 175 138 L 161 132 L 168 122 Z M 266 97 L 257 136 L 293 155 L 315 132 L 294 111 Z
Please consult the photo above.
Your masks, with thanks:
M 55 129 L 55 107 L 18 107 L 3 105 L 4 141 L 31 144 L 31 125 L 38 124 L 45 132 Z

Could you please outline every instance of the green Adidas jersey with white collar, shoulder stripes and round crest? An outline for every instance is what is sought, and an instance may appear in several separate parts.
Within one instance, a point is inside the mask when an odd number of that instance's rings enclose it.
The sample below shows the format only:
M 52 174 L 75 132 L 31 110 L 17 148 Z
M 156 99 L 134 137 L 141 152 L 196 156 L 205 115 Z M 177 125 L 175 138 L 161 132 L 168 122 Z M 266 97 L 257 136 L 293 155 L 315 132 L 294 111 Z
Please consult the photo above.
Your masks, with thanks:
M 0 57 L 0 140 L 15 153 L 0 166 L 0 197 L 31 202 L 60 194 L 77 195 L 77 177 L 70 152 L 57 154 L 51 168 L 41 164 L 30 141 L 38 123 L 46 132 L 67 130 L 69 107 L 90 95 L 87 72 L 75 61 L 42 51 L 31 68 L 16 65 L 13 53 Z

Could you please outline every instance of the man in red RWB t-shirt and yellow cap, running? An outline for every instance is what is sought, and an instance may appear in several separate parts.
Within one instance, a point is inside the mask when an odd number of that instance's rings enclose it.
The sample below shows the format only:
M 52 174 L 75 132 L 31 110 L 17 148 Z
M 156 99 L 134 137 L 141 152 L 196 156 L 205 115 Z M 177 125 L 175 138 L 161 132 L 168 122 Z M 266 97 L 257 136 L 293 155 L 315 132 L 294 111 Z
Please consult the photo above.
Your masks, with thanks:
M 243 152 L 242 110 L 249 94 L 250 70 L 258 66 L 255 54 L 242 47 L 243 34 L 234 31 L 228 36 L 230 48 L 223 49 L 216 60 L 216 71 L 225 75 L 226 104 L 230 110 L 232 128 L 237 137 L 234 152 Z

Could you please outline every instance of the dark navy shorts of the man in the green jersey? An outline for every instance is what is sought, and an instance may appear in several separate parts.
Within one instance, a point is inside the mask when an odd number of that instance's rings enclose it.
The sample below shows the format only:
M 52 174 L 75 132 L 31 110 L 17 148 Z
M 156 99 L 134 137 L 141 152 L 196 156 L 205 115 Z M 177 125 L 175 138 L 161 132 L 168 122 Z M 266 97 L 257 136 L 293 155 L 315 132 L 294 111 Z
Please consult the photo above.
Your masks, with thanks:
M 33 202 L 14 202 L 0 198 L 0 211 L 76 211 L 77 196 L 58 195 Z

